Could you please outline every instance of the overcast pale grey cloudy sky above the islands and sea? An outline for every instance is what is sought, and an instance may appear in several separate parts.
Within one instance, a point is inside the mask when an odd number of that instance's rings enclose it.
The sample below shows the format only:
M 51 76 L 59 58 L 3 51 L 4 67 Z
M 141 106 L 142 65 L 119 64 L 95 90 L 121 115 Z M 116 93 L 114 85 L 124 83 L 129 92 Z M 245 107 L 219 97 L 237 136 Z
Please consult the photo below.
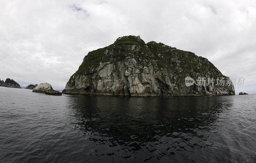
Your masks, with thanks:
M 0 79 L 63 89 L 89 51 L 140 35 L 211 61 L 256 92 L 256 1 L 0 0 Z

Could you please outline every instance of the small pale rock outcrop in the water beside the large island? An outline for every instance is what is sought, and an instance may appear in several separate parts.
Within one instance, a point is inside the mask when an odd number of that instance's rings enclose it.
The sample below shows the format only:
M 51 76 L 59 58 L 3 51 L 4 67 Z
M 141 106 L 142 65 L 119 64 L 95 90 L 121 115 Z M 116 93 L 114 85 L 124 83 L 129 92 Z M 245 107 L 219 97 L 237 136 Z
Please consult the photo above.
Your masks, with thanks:
M 48 83 L 41 83 L 36 86 L 36 88 L 33 89 L 32 92 L 37 92 L 37 93 L 44 93 L 44 94 L 50 94 L 50 95 L 55 95 L 55 96 L 61 96 L 61 92 L 55 91 L 52 89 L 52 85 Z

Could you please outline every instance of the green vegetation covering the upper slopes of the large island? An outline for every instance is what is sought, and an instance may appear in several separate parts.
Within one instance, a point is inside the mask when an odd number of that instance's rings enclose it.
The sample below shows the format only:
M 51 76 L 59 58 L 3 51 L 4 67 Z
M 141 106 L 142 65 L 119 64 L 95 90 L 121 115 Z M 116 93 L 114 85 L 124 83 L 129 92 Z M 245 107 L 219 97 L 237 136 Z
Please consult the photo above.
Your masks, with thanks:
M 138 50 L 131 50 L 127 46 L 136 45 Z M 105 55 L 107 51 L 112 51 Z M 88 74 L 90 69 L 97 68 L 100 62 L 117 63 L 124 60 L 125 57 L 131 56 L 140 65 L 147 66 L 151 64 L 155 70 L 163 72 L 175 73 L 180 79 L 190 76 L 197 78 L 198 76 L 222 77 L 221 72 L 206 58 L 196 56 L 189 51 L 179 50 L 163 43 L 150 41 L 147 44 L 138 36 L 124 36 L 118 38 L 113 44 L 105 48 L 99 48 L 88 53 L 84 57 L 83 63 L 73 74 L 69 82 L 81 74 Z M 154 63 L 156 62 L 156 64 Z M 101 69 L 103 69 L 102 67 Z M 224 76 L 225 77 L 225 76 Z

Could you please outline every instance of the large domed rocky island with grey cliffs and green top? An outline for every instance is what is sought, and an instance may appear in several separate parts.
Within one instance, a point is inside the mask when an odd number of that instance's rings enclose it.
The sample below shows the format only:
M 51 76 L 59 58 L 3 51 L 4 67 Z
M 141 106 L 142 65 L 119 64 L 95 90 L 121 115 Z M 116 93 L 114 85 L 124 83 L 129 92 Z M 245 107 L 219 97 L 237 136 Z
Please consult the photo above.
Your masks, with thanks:
M 195 81 L 186 86 L 185 78 Z M 225 78 L 200 85 L 196 79 Z M 206 58 L 163 43 L 147 44 L 140 36 L 124 36 L 112 45 L 88 53 L 62 93 L 124 96 L 235 95 L 228 77 Z

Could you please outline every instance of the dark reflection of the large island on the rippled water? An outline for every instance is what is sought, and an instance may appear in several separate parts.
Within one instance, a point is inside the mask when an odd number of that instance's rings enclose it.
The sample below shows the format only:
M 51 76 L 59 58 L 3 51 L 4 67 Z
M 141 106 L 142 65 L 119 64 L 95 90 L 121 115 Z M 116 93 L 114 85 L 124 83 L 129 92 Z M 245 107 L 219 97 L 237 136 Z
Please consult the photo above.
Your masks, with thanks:
M 223 96 L 69 96 L 69 107 L 76 119 L 71 122 L 73 129 L 81 130 L 85 138 L 95 142 L 90 155 L 99 160 L 106 159 L 104 155 L 119 161 L 175 161 L 182 156 L 184 161 L 196 159 L 194 152 L 212 146 L 209 130 L 219 127 L 215 126 L 219 115 L 232 105 L 232 98 Z

